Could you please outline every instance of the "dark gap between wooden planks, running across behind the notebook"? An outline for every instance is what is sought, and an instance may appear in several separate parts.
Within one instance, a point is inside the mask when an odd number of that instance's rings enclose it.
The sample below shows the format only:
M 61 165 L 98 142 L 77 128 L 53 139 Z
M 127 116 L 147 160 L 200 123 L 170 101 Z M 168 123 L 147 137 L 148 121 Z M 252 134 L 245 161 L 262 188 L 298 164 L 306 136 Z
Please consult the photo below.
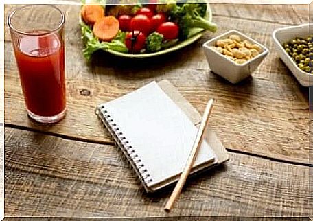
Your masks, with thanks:
M 19 129 L 19 130 L 26 130 L 26 131 L 30 131 L 30 132 L 38 132 L 42 135 L 49 135 L 51 137 L 60 137 L 62 139 L 67 139 L 70 141 L 80 141 L 80 142 L 86 142 L 86 143 L 97 143 L 97 144 L 104 144 L 104 145 L 110 145 L 110 146 L 115 146 L 115 143 L 113 141 L 98 141 L 98 140 L 93 140 L 93 139 L 85 139 L 85 138 L 79 138 L 79 137 L 73 137 L 73 136 L 68 136 L 68 135 L 60 135 L 57 134 L 55 132 L 45 132 L 42 130 L 37 130 L 34 128 L 28 128 L 26 126 L 19 126 L 19 125 L 15 125 L 15 124 L 4 124 L 5 127 L 8 128 L 14 128 L 14 129 Z M 254 157 L 258 157 L 261 159 L 266 159 L 269 161 L 275 161 L 275 162 L 279 162 L 279 163 L 288 163 L 291 165 L 300 165 L 300 166 L 304 166 L 304 167 L 313 167 L 313 164 L 311 163 L 301 163 L 301 162 L 294 162 L 294 161 L 287 161 L 287 160 L 283 160 L 283 159 L 277 159 L 275 157 L 270 157 L 270 156 L 264 156 L 261 154 L 253 154 L 250 152 L 244 152 L 242 150 L 233 150 L 233 149 L 229 149 L 226 148 L 228 152 L 232 152 L 235 154 L 244 154 L 247 156 L 254 156 Z

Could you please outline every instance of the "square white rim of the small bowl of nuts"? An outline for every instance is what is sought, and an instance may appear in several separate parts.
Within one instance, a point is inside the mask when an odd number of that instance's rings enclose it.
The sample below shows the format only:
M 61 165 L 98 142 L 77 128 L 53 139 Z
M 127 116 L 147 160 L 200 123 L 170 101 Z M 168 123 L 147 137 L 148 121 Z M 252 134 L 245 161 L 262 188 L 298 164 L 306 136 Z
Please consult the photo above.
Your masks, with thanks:
M 263 49 L 263 52 L 258 54 L 257 56 L 255 56 L 254 58 L 250 59 L 250 60 L 247 60 L 246 62 L 244 62 L 243 64 L 238 64 L 236 63 L 235 61 L 231 60 L 230 58 L 227 58 L 227 56 L 224 56 L 223 54 L 221 54 L 220 52 L 216 51 L 215 49 L 211 48 L 210 47 L 210 43 L 216 41 L 216 40 L 219 40 L 220 38 L 224 37 L 224 36 L 227 36 L 231 33 L 235 33 L 235 34 L 238 34 L 239 36 L 242 36 L 244 38 L 246 38 L 247 40 L 249 40 L 251 43 L 253 44 L 257 44 L 259 45 L 260 47 L 262 47 Z M 269 52 L 268 48 L 265 47 L 264 45 L 262 45 L 261 43 L 259 43 L 257 40 L 254 40 L 253 38 L 249 37 L 249 36 L 246 36 L 246 34 L 243 34 L 242 32 L 238 31 L 238 30 L 229 30 L 227 32 L 224 32 L 214 38 L 211 38 L 210 40 L 207 40 L 205 43 L 203 43 L 202 45 L 203 47 L 205 47 L 205 49 L 208 49 L 210 51 L 213 51 L 215 54 L 218 54 L 218 56 L 220 56 L 220 58 L 223 58 L 224 60 L 227 60 L 229 62 L 231 62 L 231 64 L 237 66 L 237 67 L 244 67 L 246 65 L 249 65 L 251 64 L 251 62 L 257 60 L 257 58 L 261 58 L 263 56 L 266 56 Z

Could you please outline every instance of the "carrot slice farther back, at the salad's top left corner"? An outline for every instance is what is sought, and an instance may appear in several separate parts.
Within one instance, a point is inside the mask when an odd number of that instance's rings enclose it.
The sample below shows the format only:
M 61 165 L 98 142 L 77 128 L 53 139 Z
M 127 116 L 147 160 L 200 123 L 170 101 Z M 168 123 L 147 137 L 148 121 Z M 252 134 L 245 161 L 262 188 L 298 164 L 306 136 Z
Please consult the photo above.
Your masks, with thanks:
M 84 22 L 89 25 L 104 17 L 104 8 L 101 5 L 84 5 L 80 12 Z

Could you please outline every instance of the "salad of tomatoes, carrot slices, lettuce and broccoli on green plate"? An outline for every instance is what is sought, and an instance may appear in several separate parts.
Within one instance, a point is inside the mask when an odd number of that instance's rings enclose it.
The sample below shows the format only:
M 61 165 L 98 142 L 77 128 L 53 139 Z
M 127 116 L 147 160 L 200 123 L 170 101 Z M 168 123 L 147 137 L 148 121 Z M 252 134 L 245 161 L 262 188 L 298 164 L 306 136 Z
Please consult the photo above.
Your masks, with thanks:
M 172 47 L 199 30 L 217 30 L 217 25 L 206 19 L 206 3 L 167 0 L 156 4 L 152 0 L 154 3 L 147 5 L 121 5 L 127 0 L 119 0 L 119 5 L 108 5 L 102 0 L 94 1 L 97 4 L 83 2 L 80 10 L 87 60 L 99 49 L 147 54 Z

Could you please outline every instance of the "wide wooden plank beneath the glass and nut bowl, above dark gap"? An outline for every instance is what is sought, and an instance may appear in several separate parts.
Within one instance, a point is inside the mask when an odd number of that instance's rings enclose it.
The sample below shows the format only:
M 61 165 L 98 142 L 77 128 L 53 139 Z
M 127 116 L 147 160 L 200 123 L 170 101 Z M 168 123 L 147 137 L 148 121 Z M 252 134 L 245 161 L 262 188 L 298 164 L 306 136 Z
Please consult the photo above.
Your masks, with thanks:
M 68 6 L 69 7 L 69 6 Z M 216 99 L 211 126 L 232 150 L 262 154 L 277 159 L 308 163 L 308 89 L 297 83 L 275 52 L 271 33 L 286 25 L 216 16 L 217 34 L 237 27 L 259 42 L 270 54 L 253 78 L 232 85 L 209 72 L 201 49 L 211 38 L 169 56 L 150 60 L 123 60 L 104 53 L 87 65 L 81 54 L 80 28 L 75 23 L 78 6 L 69 7 L 67 25 L 67 117 L 59 124 L 36 124 L 25 115 L 23 95 L 10 43 L 5 43 L 5 123 L 29 127 L 73 139 L 111 142 L 93 110 L 106 102 L 143 86 L 167 78 L 202 113 L 210 97 Z M 73 16 L 73 17 L 72 17 Z M 90 96 L 80 92 L 91 91 Z

